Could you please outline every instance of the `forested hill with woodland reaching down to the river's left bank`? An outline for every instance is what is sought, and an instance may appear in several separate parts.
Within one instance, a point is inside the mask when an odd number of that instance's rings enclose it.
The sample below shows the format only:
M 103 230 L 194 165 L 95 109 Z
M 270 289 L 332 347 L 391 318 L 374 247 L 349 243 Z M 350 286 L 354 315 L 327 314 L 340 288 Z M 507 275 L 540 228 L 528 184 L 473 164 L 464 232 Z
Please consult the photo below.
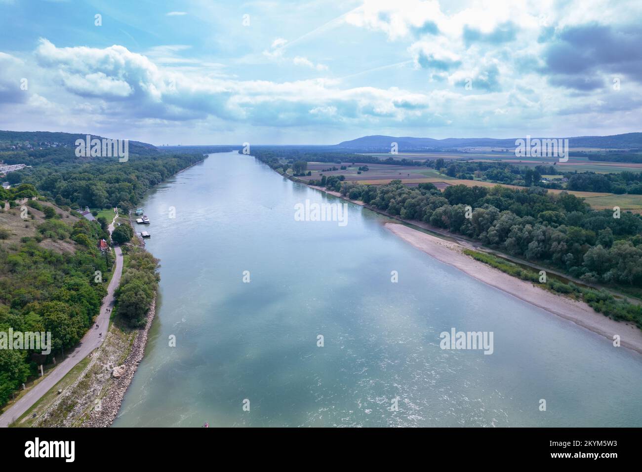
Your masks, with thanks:
M 75 140 L 85 137 L 0 132 L 0 145 L 16 148 L 0 148 L 0 160 L 30 166 L 7 173 L 5 179 L 12 186 L 32 184 L 57 205 L 97 209 L 117 206 L 126 210 L 137 205 L 148 189 L 203 159 L 200 150 L 161 151 L 152 144 L 136 141 L 130 141 L 127 162 L 119 162 L 117 157 L 76 157 Z M 6 139 L 13 140 L 12 144 Z M 37 145 L 29 139 L 36 140 Z

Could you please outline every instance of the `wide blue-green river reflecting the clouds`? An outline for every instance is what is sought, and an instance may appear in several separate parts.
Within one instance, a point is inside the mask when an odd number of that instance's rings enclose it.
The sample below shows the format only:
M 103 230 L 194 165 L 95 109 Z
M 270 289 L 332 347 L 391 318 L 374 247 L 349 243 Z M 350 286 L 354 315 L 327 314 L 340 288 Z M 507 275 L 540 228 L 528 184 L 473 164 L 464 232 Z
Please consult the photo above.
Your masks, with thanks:
M 114 426 L 642 426 L 641 355 L 358 205 L 296 221 L 306 199 L 343 203 L 238 153 L 148 195 L 159 309 Z M 451 328 L 492 331 L 494 352 L 440 349 Z

